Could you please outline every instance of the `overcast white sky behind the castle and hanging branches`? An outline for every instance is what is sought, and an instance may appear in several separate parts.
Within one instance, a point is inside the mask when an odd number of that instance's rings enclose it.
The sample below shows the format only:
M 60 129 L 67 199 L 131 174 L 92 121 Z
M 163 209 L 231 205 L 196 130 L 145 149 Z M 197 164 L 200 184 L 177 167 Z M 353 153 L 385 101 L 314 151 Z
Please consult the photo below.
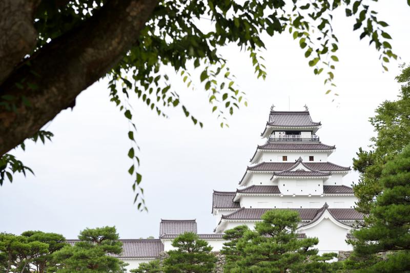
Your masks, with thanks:
M 379 18 L 389 23 L 393 48 L 403 61 L 410 61 L 410 8 L 406 1 L 382 1 Z M 387 4 L 389 3 L 389 4 Z M 342 11 L 342 10 L 341 10 Z M 248 94 L 249 107 L 221 129 L 211 114 L 208 98 L 187 91 L 179 77 L 173 87 L 181 100 L 204 122 L 194 127 L 181 110 L 169 110 L 170 119 L 159 118 L 145 104 L 135 103 L 134 121 L 141 147 L 140 172 L 143 176 L 149 213 L 133 205 L 132 177 L 127 173 L 130 147 L 128 123 L 109 102 L 105 81 L 95 83 L 77 98 L 73 111 L 61 112 L 47 130 L 52 142 L 29 144 L 26 152 L 15 151 L 35 176 L 16 175 L 12 184 L 0 187 L 0 232 L 20 234 L 38 229 L 76 238 L 85 227 L 115 225 L 121 238 L 158 236 L 163 219 L 197 219 L 198 232 L 212 233 L 212 190 L 234 191 L 249 159 L 262 140 L 259 135 L 272 103 L 276 110 L 310 108 L 325 144 L 337 147 L 330 161 L 352 165 L 360 146 L 367 146 L 373 129 L 368 117 L 386 99 L 395 99 L 399 86 L 394 77 L 398 62 L 383 73 L 379 54 L 368 41 L 359 41 L 352 32 L 353 20 L 338 14 L 334 29 L 340 40 L 340 62 L 336 68 L 338 103 L 324 95 L 323 80 L 315 76 L 303 52 L 288 34 L 265 39 L 268 77 L 254 76 L 248 53 L 235 46 L 223 50 L 241 90 Z M 339 107 L 337 107 L 339 105 Z M 357 174 L 344 183 L 357 181 Z

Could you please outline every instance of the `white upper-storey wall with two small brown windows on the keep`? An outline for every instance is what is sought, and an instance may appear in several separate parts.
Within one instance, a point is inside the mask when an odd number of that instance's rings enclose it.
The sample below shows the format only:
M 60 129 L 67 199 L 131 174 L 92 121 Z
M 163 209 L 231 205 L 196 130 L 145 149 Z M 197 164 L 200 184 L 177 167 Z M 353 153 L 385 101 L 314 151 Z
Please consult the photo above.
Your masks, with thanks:
M 288 161 L 282 161 L 282 156 L 288 156 Z M 314 156 L 313 161 L 305 159 L 305 156 Z M 302 157 L 303 162 L 327 162 L 327 152 L 262 152 L 259 162 L 295 162 Z

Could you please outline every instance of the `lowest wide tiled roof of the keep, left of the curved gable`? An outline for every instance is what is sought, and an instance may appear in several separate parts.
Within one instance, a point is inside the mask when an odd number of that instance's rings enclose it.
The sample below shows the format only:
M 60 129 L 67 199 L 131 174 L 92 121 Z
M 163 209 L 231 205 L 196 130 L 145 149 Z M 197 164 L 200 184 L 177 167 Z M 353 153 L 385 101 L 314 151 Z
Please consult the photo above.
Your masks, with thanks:
M 284 208 L 244 208 L 238 209 L 238 211 L 231 214 L 223 215 L 222 219 L 229 220 L 260 220 L 262 214 L 271 209 L 284 209 Z M 287 208 L 291 211 L 297 211 L 302 220 L 312 220 L 317 214 L 317 208 Z

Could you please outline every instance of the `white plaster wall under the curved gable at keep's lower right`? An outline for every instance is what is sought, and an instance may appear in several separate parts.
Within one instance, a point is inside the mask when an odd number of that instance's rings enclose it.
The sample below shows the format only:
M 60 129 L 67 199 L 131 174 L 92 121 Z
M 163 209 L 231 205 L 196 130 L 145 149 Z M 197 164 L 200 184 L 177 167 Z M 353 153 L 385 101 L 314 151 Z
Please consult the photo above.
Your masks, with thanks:
M 307 237 L 317 237 L 319 239 L 317 248 L 321 253 L 338 253 L 339 250 L 347 251 L 353 249 L 351 245 L 345 242 L 346 234 L 350 230 L 336 225 L 330 219 L 323 219 L 316 226 L 301 230 L 300 232 L 305 233 Z

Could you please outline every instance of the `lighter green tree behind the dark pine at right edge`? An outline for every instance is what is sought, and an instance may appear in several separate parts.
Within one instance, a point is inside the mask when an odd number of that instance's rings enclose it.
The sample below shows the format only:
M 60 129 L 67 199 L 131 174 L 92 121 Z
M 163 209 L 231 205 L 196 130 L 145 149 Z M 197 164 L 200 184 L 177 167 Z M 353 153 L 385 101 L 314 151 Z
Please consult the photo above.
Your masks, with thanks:
M 358 209 L 369 213 L 376 196 L 383 189 L 380 177 L 385 163 L 402 152 L 410 143 L 410 67 L 403 65 L 402 73 L 396 77 L 401 90 L 396 101 L 384 101 L 376 109 L 376 116 L 370 122 L 377 133 L 371 138 L 371 150 L 359 149 L 353 159 L 353 168 L 360 172 L 360 181 L 354 185 L 359 198 Z

